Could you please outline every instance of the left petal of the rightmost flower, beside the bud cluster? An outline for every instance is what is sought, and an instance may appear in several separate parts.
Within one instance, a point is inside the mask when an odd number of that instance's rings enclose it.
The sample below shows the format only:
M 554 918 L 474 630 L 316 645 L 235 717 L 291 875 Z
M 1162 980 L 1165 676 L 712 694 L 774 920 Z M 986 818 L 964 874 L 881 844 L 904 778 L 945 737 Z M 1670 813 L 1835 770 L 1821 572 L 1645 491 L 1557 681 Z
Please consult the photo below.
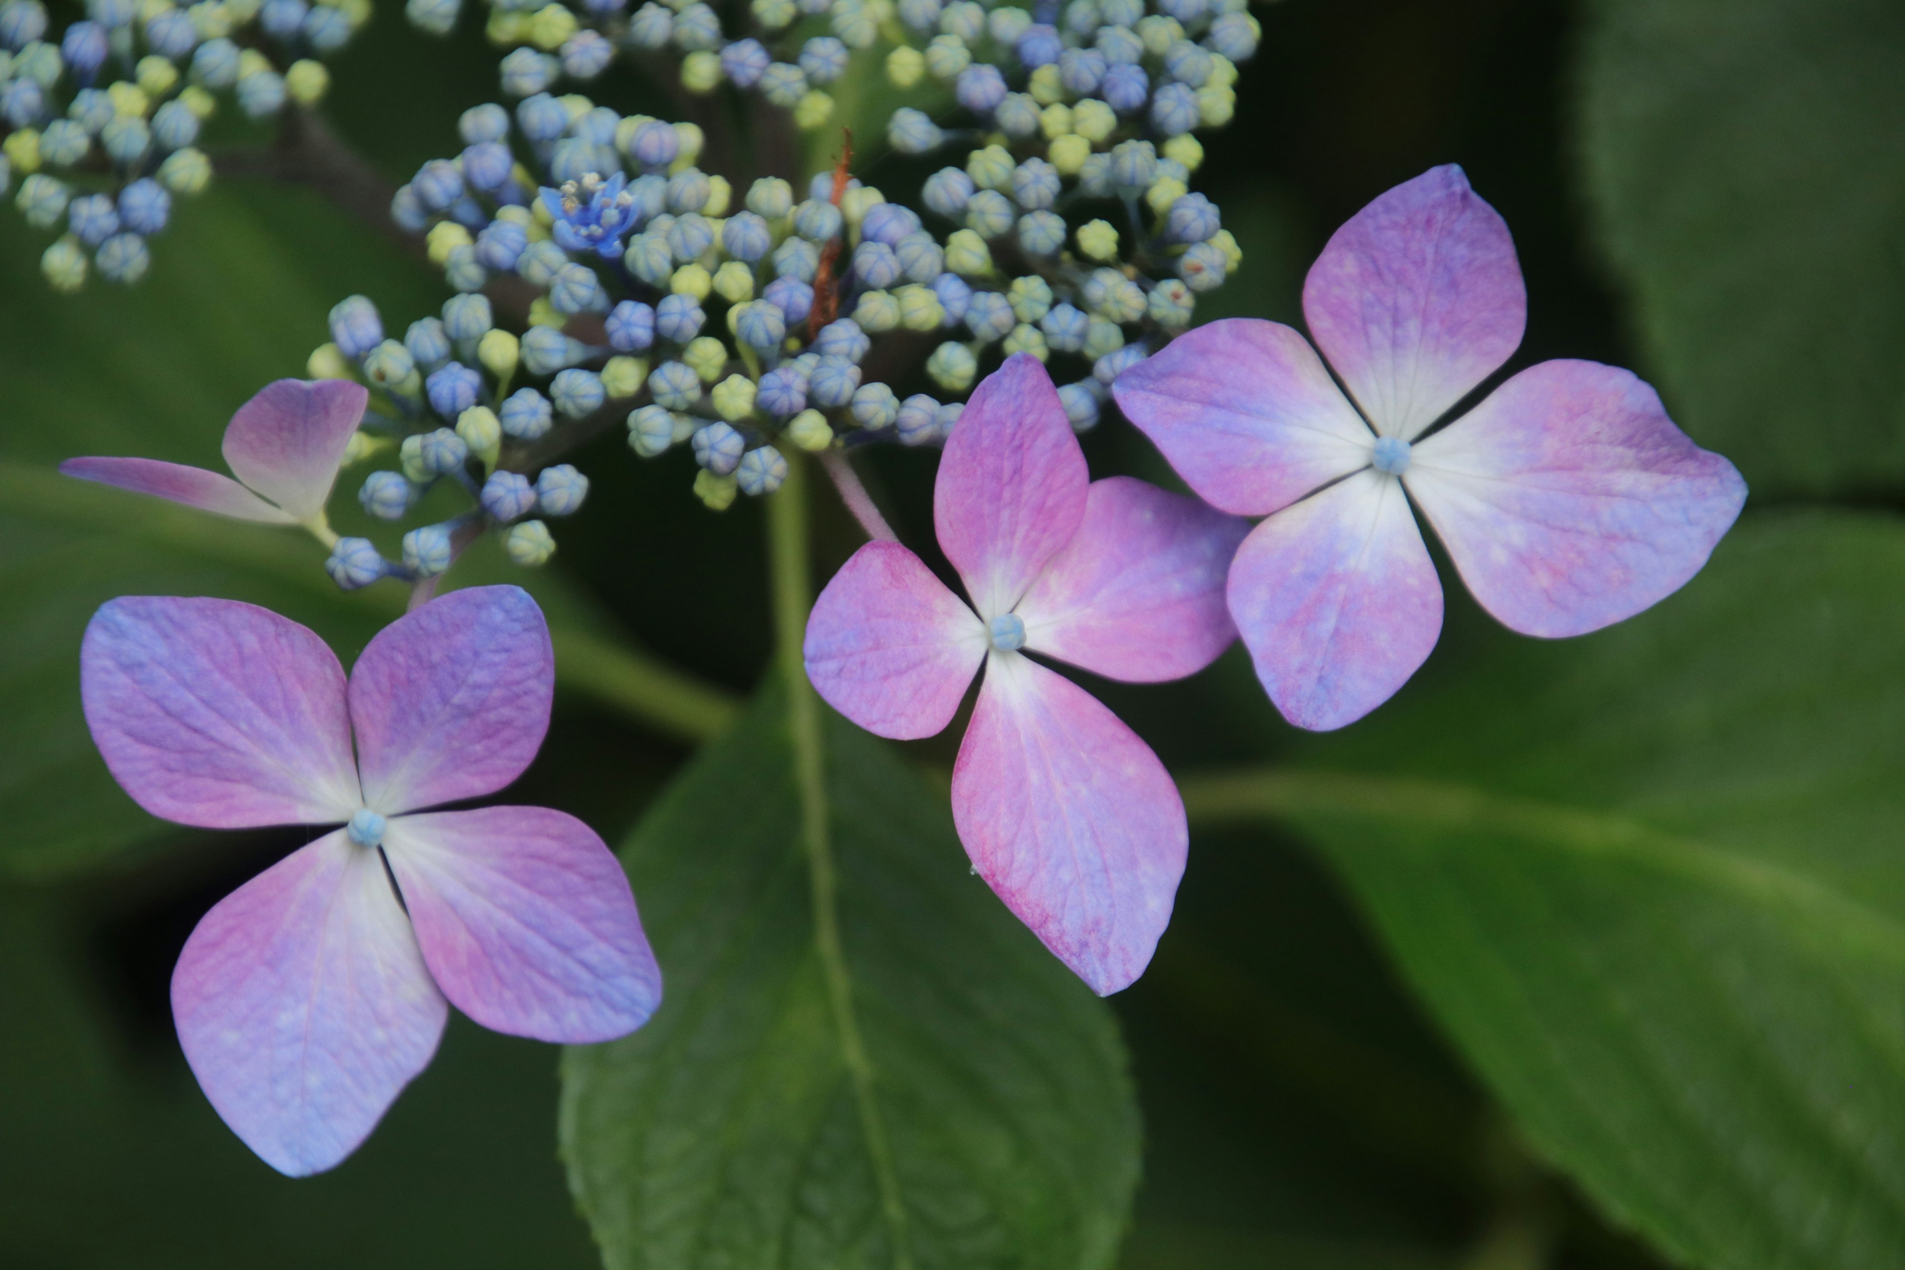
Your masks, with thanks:
M 1187 331 L 1111 392 L 1198 497 L 1238 516 L 1368 466 L 1375 442 L 1309 341 L 1259 318 Z

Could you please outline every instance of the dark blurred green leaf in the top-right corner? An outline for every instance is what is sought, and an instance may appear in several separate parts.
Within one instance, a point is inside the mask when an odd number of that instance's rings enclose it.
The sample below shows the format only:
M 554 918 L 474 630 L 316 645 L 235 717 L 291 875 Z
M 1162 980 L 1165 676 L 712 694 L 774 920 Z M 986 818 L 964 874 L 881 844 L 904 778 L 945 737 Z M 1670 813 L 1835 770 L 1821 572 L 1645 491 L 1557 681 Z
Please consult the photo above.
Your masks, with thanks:
M 1594 0 L 1579 154 L 1650 371 L 1756 493 L 1905 480 L 1905 8 Z

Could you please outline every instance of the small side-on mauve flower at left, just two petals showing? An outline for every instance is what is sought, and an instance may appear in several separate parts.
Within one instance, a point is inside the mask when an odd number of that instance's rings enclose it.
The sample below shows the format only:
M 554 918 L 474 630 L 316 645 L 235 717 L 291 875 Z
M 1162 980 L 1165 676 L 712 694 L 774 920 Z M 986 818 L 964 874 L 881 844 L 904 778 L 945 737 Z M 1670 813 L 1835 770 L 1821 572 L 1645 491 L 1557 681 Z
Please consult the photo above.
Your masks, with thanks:
M 67 459 L 59 470 L 238 520 L 318 524 L 368 402 L 349 379 L 265 385 L 225 428 L 238 480 L 158 459 Z

